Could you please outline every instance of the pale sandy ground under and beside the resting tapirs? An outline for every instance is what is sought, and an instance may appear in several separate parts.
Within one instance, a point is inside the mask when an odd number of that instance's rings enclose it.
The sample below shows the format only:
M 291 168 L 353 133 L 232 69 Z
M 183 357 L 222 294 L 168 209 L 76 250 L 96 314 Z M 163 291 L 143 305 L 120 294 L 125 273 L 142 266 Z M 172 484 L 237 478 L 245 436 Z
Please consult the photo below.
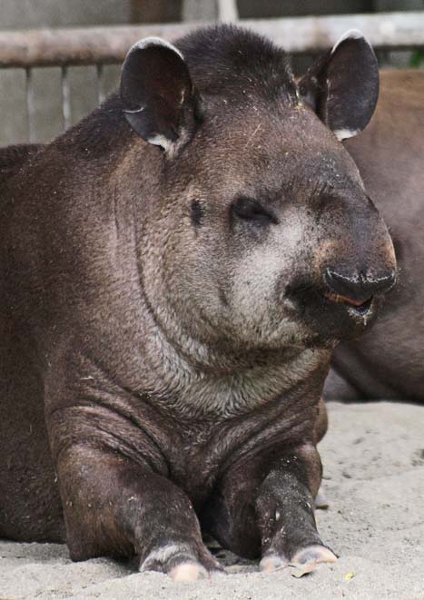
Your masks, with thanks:
M 173 583 L 106 559 L 72 563 L 65 546 L 0 542 L 0 600 L 424 600 L 424 407 L 329 408 L 320 452 L 330 507 L 317 512 L 317 521 L 340 555 L 336 564 L 301 578 L 291 567 L 262 575 L 256 565 L 220 553 L 228 576 Z

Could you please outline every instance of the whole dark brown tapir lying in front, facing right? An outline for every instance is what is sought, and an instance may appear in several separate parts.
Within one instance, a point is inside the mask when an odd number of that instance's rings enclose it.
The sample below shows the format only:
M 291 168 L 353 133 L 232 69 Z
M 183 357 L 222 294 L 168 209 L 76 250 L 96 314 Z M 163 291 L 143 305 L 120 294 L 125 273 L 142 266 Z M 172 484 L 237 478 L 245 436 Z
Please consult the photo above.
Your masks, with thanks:
M 0 536 L 195 579 L 212 534 L 261 568 L 335 560 L 315 526 L 331 350 L 392 287 L 340 140 L 375 56 L 296 83 L 256 34 L 135 44 L 119 94 L 1 175 Z

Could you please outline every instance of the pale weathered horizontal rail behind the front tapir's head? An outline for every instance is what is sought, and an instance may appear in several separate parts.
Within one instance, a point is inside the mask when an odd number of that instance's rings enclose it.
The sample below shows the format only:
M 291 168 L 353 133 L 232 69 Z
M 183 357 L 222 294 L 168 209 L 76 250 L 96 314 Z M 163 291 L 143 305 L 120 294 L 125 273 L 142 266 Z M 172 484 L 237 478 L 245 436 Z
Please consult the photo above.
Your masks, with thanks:
M 271 37 L 291 53 L 325 50 L 351 28 L 360 29 L 377 49 L 424 46 L 424 12 L 254 19 L 241 20 L 238 24 Z M 159 35 L 174 40 L 201 25 L 210 24 L 0 32 L 0 66 L 120 63 L 128 48 L 141 37 Z

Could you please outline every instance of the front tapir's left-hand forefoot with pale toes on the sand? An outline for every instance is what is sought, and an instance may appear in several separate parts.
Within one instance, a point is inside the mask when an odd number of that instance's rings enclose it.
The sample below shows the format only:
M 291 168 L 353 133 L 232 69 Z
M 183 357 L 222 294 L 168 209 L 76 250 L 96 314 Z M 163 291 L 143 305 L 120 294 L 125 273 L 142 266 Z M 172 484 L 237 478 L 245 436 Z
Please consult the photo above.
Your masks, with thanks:
M 193 549 L 183 544 L 156 548 L 143 560 L 140 571 L 167 573 L 174 581 L 197 581 L 225 573 L 205 546 Z

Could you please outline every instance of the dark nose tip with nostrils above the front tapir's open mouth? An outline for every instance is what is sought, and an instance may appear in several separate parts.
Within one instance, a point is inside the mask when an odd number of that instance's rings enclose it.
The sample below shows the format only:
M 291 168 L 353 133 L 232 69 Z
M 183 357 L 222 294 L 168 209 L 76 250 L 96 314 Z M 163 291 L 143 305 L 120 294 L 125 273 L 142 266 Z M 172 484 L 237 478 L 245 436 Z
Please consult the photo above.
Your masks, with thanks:
M 336 270 L 326 269 L 324 280 L 330 290 L 353 300 L 368 300 L 375 294 L 389 291 L 396 282 L 396 271 L 389 270 L 377 274 L 357 273 L 346 275 Z

